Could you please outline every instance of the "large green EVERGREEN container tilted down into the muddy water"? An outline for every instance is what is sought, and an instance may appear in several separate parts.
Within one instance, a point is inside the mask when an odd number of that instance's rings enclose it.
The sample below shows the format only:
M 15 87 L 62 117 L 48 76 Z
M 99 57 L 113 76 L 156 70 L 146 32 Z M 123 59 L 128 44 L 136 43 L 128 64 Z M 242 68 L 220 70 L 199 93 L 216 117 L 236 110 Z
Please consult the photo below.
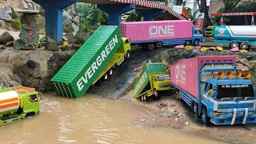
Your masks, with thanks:
M 100 26 L 51 79 L 56 93 L 82 97 L 121 45 L 118 26 Z

